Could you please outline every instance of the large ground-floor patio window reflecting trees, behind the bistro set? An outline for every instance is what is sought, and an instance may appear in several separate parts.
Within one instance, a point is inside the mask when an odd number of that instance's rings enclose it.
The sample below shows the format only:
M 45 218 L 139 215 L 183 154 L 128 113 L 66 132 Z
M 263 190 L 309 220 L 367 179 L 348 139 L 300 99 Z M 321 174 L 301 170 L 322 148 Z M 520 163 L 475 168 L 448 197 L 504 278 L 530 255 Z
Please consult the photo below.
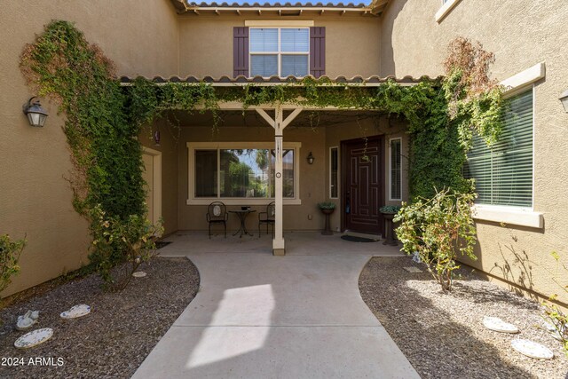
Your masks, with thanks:
M 220 199 L 229 203 L 231 200 L 246 200 L 243 203 L 261 204 L 274 198 L 276 156 L 274 149 L 270 148 L 272 144 L 246 146 L 225 143 L 211 148 L 207 144 L 189 143 L 188 147 L 188 203 Z M 298 147 L 299 144 L 284 144 L 282 152 L 282 195 L 285 200 L 297 198 Z

